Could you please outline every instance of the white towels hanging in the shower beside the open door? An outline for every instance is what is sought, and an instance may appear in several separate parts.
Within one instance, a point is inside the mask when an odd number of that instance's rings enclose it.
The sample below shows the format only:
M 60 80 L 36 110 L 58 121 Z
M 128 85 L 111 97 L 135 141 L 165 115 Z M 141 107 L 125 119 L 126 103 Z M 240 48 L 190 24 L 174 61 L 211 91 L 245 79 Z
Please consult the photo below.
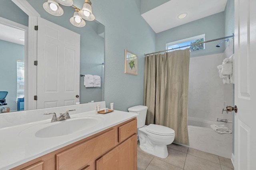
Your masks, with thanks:
M 234 84 L 234 54 L 224 59 L 222 65 L 217 66 L 223 84 Z

